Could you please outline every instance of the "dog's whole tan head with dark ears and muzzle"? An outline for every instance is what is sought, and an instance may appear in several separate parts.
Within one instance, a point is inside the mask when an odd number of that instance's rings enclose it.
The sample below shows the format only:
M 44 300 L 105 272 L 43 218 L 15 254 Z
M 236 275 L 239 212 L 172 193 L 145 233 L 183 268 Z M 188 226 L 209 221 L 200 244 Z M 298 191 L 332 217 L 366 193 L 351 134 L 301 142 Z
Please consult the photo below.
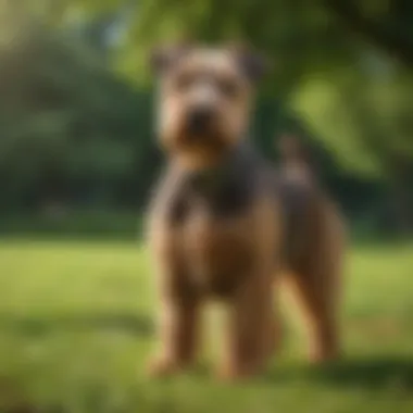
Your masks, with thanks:
M 261 57 L 235 48 L 171 47 L 152 55 L 160 80 L 158 133 L 162 146 L 212 158 L 243 138 Z

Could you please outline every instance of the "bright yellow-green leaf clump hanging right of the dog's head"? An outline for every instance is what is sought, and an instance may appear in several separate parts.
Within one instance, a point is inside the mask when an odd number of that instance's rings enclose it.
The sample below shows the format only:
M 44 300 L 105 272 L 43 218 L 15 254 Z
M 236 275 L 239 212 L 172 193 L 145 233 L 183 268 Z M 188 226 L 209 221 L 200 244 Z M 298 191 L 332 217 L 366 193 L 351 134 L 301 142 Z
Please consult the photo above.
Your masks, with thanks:
M 413 160 L 413 83 L 391 75 L 309 79 L 293 105 L 350 171 L 386 178 L 393 159 Z

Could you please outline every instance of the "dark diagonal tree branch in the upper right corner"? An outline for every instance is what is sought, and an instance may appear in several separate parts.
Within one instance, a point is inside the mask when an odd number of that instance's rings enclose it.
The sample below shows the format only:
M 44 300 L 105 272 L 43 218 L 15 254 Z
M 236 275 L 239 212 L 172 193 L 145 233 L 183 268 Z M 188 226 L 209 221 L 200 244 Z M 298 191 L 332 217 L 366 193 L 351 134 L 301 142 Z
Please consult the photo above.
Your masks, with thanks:
M 324 0 L 348 28 L 404 65 L 413 66 L 413 39 L 367 18 L 350 0 Z

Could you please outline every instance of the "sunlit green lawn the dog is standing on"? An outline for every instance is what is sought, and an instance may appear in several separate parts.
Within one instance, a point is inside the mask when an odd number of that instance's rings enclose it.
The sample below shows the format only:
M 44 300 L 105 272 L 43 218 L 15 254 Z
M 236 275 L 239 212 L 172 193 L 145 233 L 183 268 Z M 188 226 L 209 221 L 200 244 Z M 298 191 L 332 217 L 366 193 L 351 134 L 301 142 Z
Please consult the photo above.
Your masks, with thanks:
M 413 246 L 350 252 L 347 360 L 329 367 L 306 366 L 302 330 L 290 328 L 265 376 L 220 385 L 212 312 L 200 367 L 153 383 L 143 374 L 153 313 L 138 245 L 0 241 L 0 403 L 53 413 L 413 412 Z

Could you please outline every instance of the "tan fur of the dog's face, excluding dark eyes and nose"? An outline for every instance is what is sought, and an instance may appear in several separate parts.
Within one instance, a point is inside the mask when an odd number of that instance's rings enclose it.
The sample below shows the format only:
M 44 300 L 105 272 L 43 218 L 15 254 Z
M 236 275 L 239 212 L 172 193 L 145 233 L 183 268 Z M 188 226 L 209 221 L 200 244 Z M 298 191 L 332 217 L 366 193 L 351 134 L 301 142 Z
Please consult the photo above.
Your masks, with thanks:
M 188 87 L 185 91 L 179 89 L 182 83 L 201 76 L 209 77 L 211 83 L 208 79 L 195 82 L 193 87 Z M 223 97 L 212 83 L 230 83 L 237 89 L 236 96 Z M 190 167 L 213 163 L 221 154 L 220 148 L 216 150 L 198 142 L 183 141 L 183 120 L 193 104 L 205 102 L 216 108 L 216 128 L 224 146 L 233 145 L 248 127 L 252 89 L 234 64 L 230 53 L 210 49 L 195 50 L 162 79 L 161 91 L 158 118 L 161 143 L 167 148 L 171 157 Z

